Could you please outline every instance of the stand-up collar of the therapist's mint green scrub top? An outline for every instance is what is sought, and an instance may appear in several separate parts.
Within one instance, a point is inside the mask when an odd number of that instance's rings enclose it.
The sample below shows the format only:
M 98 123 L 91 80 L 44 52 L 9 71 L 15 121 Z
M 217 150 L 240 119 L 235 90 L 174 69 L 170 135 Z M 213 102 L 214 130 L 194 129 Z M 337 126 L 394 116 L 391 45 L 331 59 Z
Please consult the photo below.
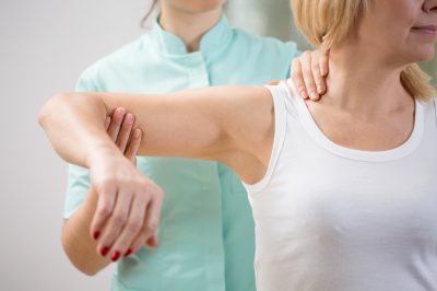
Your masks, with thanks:
M 153 24 L 153 34 L 158 40 L 158 49 L 166 55 L 187 55 L 187 48 L 178 36 L 166 32 L 160 24 L 160 18 Z M 208 31 L 200 40 L 200 51 L 209 53 L 227 43 L 231 39 L 232 30 L 225 16 Z M 197 51 L 192 53 L 196 54 Z

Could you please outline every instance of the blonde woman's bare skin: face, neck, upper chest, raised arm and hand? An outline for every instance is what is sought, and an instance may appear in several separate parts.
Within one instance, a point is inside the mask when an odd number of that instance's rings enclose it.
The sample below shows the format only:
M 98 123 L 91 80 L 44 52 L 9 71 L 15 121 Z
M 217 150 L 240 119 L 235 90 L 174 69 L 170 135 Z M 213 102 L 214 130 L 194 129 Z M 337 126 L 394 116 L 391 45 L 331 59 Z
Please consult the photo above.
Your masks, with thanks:
M 362 150 L 392 149 L 410 135 L 413 102 L 399 75 L 412 60 L 430 59 L 436 40 L 416 27 L 436 25 L 437 0 L 385 1 L 375 7 L 355 34 L 332 48 L 328 82 L 332 94 L 309 106 L 328 138 Z M 392 22 L 397 22 L 394 32 L 379 28 Z M 248 184 L 265 173 L 274 108 L 264 88 L 224 86 L 160 96 L 58 95 L 42 109 L 39 121 L 64 160 L 91 170 L 99 196 L 91 229 L 102 233 L 99 249 L 127 252 L 135 237 L 152 237 L 160 219 L 162 193 L 151 190 L 153 184 L 127 161 L 103 126 L 118 106 L 134 114 L 137 125 L 146 128 L 140 154 L 224 162 Z M 350 123 L 330 120 L 332 114 L 344 114 Z M 370 121 L 370 127 L 363 120 Z M 351 131 L 350 124 L 356 130 Z M 130 211 L 129 205 L 133 206 Z M 139 228 L 141 223 L 145 226 Z

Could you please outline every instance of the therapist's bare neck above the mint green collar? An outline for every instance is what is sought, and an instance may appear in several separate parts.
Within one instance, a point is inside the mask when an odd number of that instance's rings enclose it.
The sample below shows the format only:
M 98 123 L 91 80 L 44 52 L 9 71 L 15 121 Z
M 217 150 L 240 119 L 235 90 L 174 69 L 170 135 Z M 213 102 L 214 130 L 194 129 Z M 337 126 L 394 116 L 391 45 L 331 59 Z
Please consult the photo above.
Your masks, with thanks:
M 218 22 L 222 13 L 222 7 L 206 12 L 187 12 L 163 1 L 160 24 L 182 39 L 187 51 L 192 53 L 199 50 L 202 36 Z

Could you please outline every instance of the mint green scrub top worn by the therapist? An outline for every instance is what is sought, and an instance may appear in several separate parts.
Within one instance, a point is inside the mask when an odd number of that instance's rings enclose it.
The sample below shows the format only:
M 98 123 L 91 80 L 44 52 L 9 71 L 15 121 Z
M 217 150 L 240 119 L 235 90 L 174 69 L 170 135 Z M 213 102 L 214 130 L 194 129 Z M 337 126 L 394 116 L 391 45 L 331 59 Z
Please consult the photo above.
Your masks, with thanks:
M 225 18 L 188 54 L 156 22 L 139 39 L 86 69 L 78 91 L 167 93 L 284 79 L 299 51 L 294 43 L 258 38 Z M 146 138 L 146 137 L 145 137 Z M 188 159 L 138 158 L 138 167 L 165 191 L 160 246 L 142 247 L 115 265 L 111 290 L 255 290 L 255 225 L 247 194 L 225 165 Z M 70 165 L 68 219 L 90 187 L 88 172 Z

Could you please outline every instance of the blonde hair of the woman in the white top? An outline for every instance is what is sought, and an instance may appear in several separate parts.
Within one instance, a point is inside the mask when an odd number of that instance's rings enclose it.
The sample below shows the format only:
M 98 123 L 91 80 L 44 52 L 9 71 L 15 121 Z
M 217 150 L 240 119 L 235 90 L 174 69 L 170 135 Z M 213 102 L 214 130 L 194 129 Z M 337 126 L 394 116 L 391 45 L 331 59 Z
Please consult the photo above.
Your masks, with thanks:
M 368 0 L 292 0 L 296 26 L 317 48 L 330 49 L 356 27 L 366 13 Z M 432 78 L 416 63 L 409 65 L 401 73 L 401 83 L 412 96 L 430 101 L 436 90 Z

